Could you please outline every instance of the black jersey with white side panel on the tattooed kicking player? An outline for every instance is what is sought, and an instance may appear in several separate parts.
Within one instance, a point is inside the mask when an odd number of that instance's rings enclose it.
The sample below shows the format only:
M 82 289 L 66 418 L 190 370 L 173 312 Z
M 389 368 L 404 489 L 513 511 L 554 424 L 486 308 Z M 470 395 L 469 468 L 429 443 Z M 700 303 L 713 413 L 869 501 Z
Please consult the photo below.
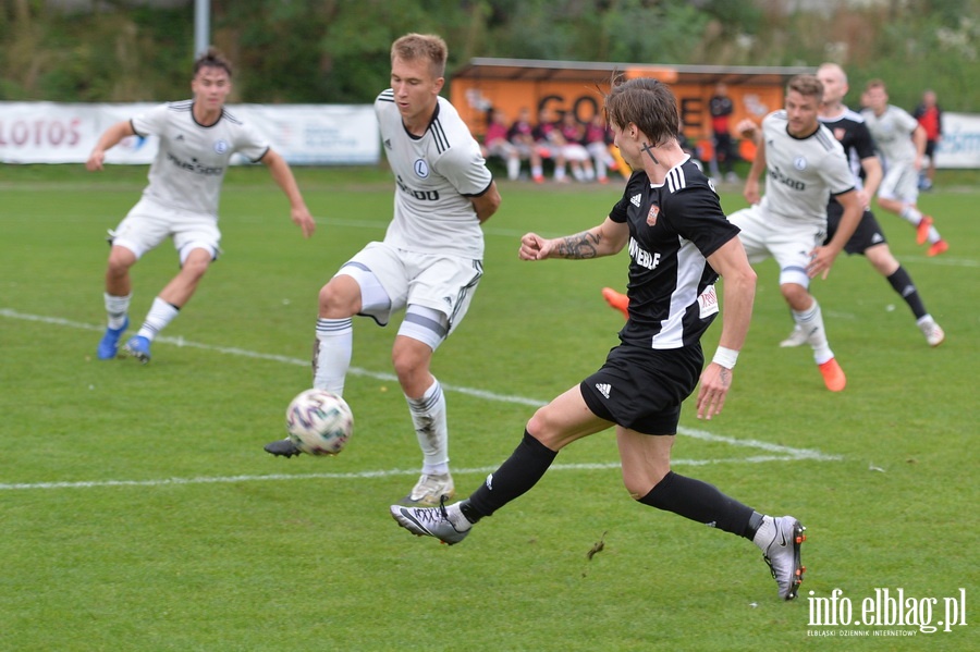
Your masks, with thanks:
M 629 319 L 624 344 L 696 345 L 718 315 L 718 273 L 706 258 L 736 237 L 711 182 L 688 158 L 664 183 L 634 172 L 609 214 L 629 226 Z

